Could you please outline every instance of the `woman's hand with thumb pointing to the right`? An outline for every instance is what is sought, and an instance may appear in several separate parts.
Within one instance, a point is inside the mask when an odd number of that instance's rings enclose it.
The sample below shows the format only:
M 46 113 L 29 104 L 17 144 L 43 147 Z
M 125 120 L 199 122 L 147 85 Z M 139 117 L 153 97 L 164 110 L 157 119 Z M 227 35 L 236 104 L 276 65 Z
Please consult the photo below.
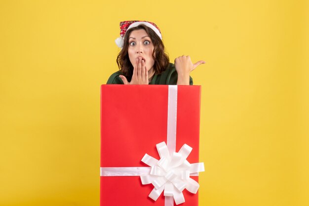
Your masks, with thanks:
M 181 56 L 175 59 L 175 68 L 178 74 L 177 85 L 190 84 L 190 72 L 193 71 L 200 64 L 205 64 L 205 61 L 198 61 L 192 63 L 190 56 Z

